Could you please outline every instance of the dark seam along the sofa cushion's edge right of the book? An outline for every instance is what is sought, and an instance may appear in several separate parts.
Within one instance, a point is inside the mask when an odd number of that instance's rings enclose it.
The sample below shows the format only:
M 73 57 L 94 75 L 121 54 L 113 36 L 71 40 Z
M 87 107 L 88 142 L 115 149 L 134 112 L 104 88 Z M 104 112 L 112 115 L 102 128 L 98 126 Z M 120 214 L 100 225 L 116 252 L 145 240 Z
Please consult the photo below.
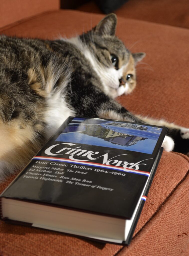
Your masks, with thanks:
M 176 155 L 180 155 L 181 157 L 183 157 L 188 163 L 189 163 L 189 158 L 187 159 L 186 157 L 184 157 L 185 155 L 181 155 L 180 153 L 177 152 L 172 152 Z M 157 210 L 154 212 L 154 214 L 149 218 L 149 220 L 146 221 L 146 223 L 144 224 L 144 226 L 141 227 L 141 229 L 134 235 L 133 238 L 135 238 L 137 236 L 137 234 L 139 234 L 141 232 L 141 230 L 156 216 L 156 214 L 161 210 L 161 208 L 164 206 L 164 204 L 166 204 L 166 202 L 169 200 L 169 198 L 171 197 L 171 195 L 174 193 L 174 191 L 177 190 L 177 188 L 184 182 L 184 180 L 186 179 L 186 177 L 189 175 L 189 169 L 186 172 L 186 174 L 184 175 L 184 177 L 180 180 L 180 182 L 178 184 L 176 184 L 176 186 L 171 190 L 170 194 L 165 198 L 165 200 L 159 205 L 159 207 L 157 208 Z M 123 246 L 122 248 L 120 248 L 113 256 L 119 256 L 119 253 L 125 248 L 125 246 Z

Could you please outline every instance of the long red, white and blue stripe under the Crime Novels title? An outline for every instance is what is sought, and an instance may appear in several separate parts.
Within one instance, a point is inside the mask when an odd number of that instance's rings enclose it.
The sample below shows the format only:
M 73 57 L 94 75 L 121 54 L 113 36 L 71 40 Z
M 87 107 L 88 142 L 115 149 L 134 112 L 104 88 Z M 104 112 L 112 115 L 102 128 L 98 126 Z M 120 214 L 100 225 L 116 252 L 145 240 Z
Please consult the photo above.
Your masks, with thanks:
M 87 165 L 87 166 L 91 166 L 91 167 L 107 168 L 107 169 L 111 169 L 114 171 L 135 173 L 135 174 L 145 175 L 148 177 L 150 175 L 149 172 L 144 172 L 144 171 L 140 171 L 140 170 L 134 170 L 134 169 L 129 169 L 129 168 L 123 168 L 123 167 L 117 167 L 117 166 L 113 166 L 113 165 L 105 165 L 105 164 L 99 164 L 99 163 L 92 163 L 92 162 L 86 162 L 86 161 L 70 160 L 70 159 L 66 159 L 66 158 L 35 156 L 32 159 L 65 162 L 65 163 L 70 163 L 70 164 L 82 164 L 82 165 Z

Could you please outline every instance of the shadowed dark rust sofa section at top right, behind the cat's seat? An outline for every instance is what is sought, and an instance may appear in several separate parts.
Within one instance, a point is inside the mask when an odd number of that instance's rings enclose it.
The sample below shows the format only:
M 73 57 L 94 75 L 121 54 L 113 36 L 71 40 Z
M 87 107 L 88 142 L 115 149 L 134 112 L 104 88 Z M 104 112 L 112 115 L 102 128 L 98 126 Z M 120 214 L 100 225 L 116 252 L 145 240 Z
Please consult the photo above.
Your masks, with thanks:
M 93 1 L 77 9 L 89 13 L 102 13 Z M 129 0 L 114 13 L 120 17 L 189 28 L 188 0 Z

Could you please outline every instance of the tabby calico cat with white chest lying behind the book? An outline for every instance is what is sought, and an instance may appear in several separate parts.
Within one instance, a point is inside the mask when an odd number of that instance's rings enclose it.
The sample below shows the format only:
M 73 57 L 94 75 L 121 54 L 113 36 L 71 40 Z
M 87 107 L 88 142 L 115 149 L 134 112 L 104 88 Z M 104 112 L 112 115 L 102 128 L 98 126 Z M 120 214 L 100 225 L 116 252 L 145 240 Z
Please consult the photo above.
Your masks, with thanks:
M 1 180 L 21 169 L 68 116 L 164 125 L 165 150 L 188 153 L 189 129 L 135 116 L 114 100 L 133 91 L 135 65 L 145 57 L 125 48 L 116 23 L 110 14 L 87 33 L 53 41 L 0 36 Z

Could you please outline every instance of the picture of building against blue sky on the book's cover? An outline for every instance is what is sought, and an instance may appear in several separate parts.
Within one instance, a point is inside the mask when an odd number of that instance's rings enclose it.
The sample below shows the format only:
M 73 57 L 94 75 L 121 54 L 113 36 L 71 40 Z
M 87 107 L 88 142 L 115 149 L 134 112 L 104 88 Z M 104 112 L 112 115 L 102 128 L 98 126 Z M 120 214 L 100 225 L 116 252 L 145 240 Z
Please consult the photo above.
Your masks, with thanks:
M 161 131 L 146 124 L 74 118 L 56 141 L 152 154 Z

